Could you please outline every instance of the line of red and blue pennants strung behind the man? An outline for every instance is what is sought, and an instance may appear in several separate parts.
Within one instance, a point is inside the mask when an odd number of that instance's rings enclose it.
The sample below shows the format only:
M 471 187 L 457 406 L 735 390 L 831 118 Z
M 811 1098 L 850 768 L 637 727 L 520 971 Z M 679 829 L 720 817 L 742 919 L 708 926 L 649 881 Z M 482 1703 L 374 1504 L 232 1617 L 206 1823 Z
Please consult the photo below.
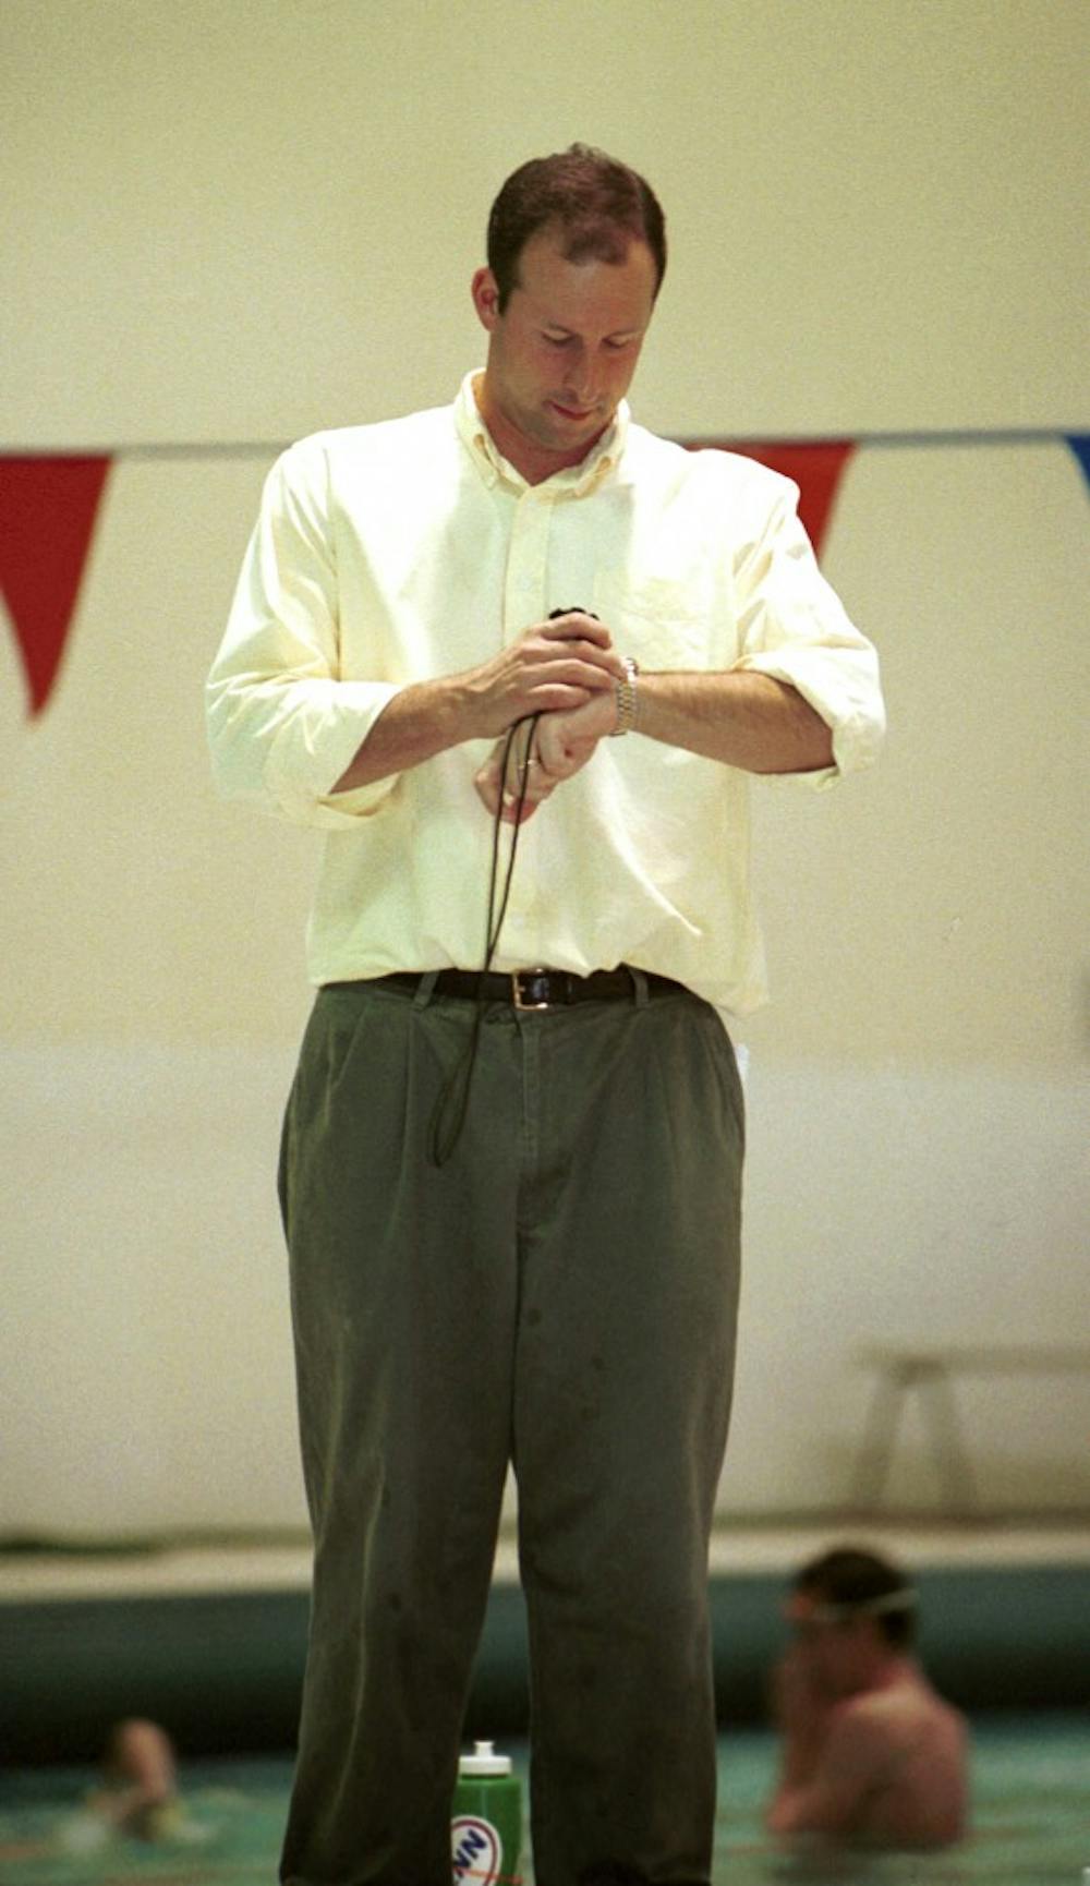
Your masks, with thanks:
M 1056 445 L 1090 488 L 1090 432 L 869 432 L 849 439 L 686 438 L 686 451 L 735 451 L 794 479 L 800 517 L 820 556 L 837 488 L 854 453 L 873 447 Z M 15 630 L 30 717 L 47 707 L 60 666 L 109 470 L 119 460 L 266 458 L 289 439 L 117 445 L 96 453 L 0 451 L 0 590 Z

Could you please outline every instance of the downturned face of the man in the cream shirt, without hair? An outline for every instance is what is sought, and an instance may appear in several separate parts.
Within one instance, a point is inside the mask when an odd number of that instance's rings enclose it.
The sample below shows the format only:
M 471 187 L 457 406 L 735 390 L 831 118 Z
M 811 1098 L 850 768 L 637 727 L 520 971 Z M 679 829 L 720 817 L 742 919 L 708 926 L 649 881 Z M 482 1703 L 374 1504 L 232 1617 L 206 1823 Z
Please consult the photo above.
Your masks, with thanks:
M 568 262 L 556 230 L 522 249 L 504 313 L 492 270 L 477 270 L 473 306 L 488 330 L 481 411 L 526 477 L 579 464 L 605 432 L 636 373 L 654 287 L 645 241 L 632 240 L 622 262 Z

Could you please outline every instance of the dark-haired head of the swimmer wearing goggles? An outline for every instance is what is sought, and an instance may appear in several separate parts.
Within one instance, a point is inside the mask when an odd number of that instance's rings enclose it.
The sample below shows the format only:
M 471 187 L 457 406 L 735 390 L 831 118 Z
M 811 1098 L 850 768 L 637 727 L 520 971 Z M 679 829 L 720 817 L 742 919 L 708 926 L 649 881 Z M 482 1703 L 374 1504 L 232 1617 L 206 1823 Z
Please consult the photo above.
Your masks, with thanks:
M 917 1594 L 877 1552 L 837 1547 L 801 1567 L 786 1614 L 818 1686 L 849 1696 L 911 1650 Z

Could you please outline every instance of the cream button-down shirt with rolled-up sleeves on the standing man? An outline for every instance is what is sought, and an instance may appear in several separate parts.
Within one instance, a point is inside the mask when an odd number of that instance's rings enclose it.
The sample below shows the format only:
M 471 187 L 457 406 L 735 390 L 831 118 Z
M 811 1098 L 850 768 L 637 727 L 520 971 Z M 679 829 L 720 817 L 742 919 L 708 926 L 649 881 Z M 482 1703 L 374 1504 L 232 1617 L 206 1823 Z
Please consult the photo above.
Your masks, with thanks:
M 473 379 L 453 407 L 322 432 L 277 460 L 211 670 L 221 790 L 324 832 L 315 983 L 481 966 L 492 820 L 473 775 L 492 741 L 332 786 L 402 687 L 477 668 L 551 609 L 592 609 L 641 670 L 794 685 L 834 734 L 834 768 L 800 775 L 817 786 L 881 741 L 875 651 L 820 575 L 788 479 L 688 453 L 620 405 L 583 464 L 528 485 Z M 639 732 L 600 741 L 520 828 L 492 968 L 630 962 L 726 1013 L 756 1007 L 749 788 Z

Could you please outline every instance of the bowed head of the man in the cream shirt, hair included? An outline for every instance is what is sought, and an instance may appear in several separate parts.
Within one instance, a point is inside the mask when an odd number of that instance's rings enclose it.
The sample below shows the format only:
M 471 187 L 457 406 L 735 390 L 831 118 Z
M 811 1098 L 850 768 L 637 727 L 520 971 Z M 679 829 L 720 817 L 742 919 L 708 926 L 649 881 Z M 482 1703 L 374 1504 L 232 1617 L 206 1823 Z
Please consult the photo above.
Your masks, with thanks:
M 488 219 L 473 306 L 477 400 L 530 481 L 579 464 L 628 392 L 666 268 L 662 211 L 636 172 L 573 145 L 517 170 Z

